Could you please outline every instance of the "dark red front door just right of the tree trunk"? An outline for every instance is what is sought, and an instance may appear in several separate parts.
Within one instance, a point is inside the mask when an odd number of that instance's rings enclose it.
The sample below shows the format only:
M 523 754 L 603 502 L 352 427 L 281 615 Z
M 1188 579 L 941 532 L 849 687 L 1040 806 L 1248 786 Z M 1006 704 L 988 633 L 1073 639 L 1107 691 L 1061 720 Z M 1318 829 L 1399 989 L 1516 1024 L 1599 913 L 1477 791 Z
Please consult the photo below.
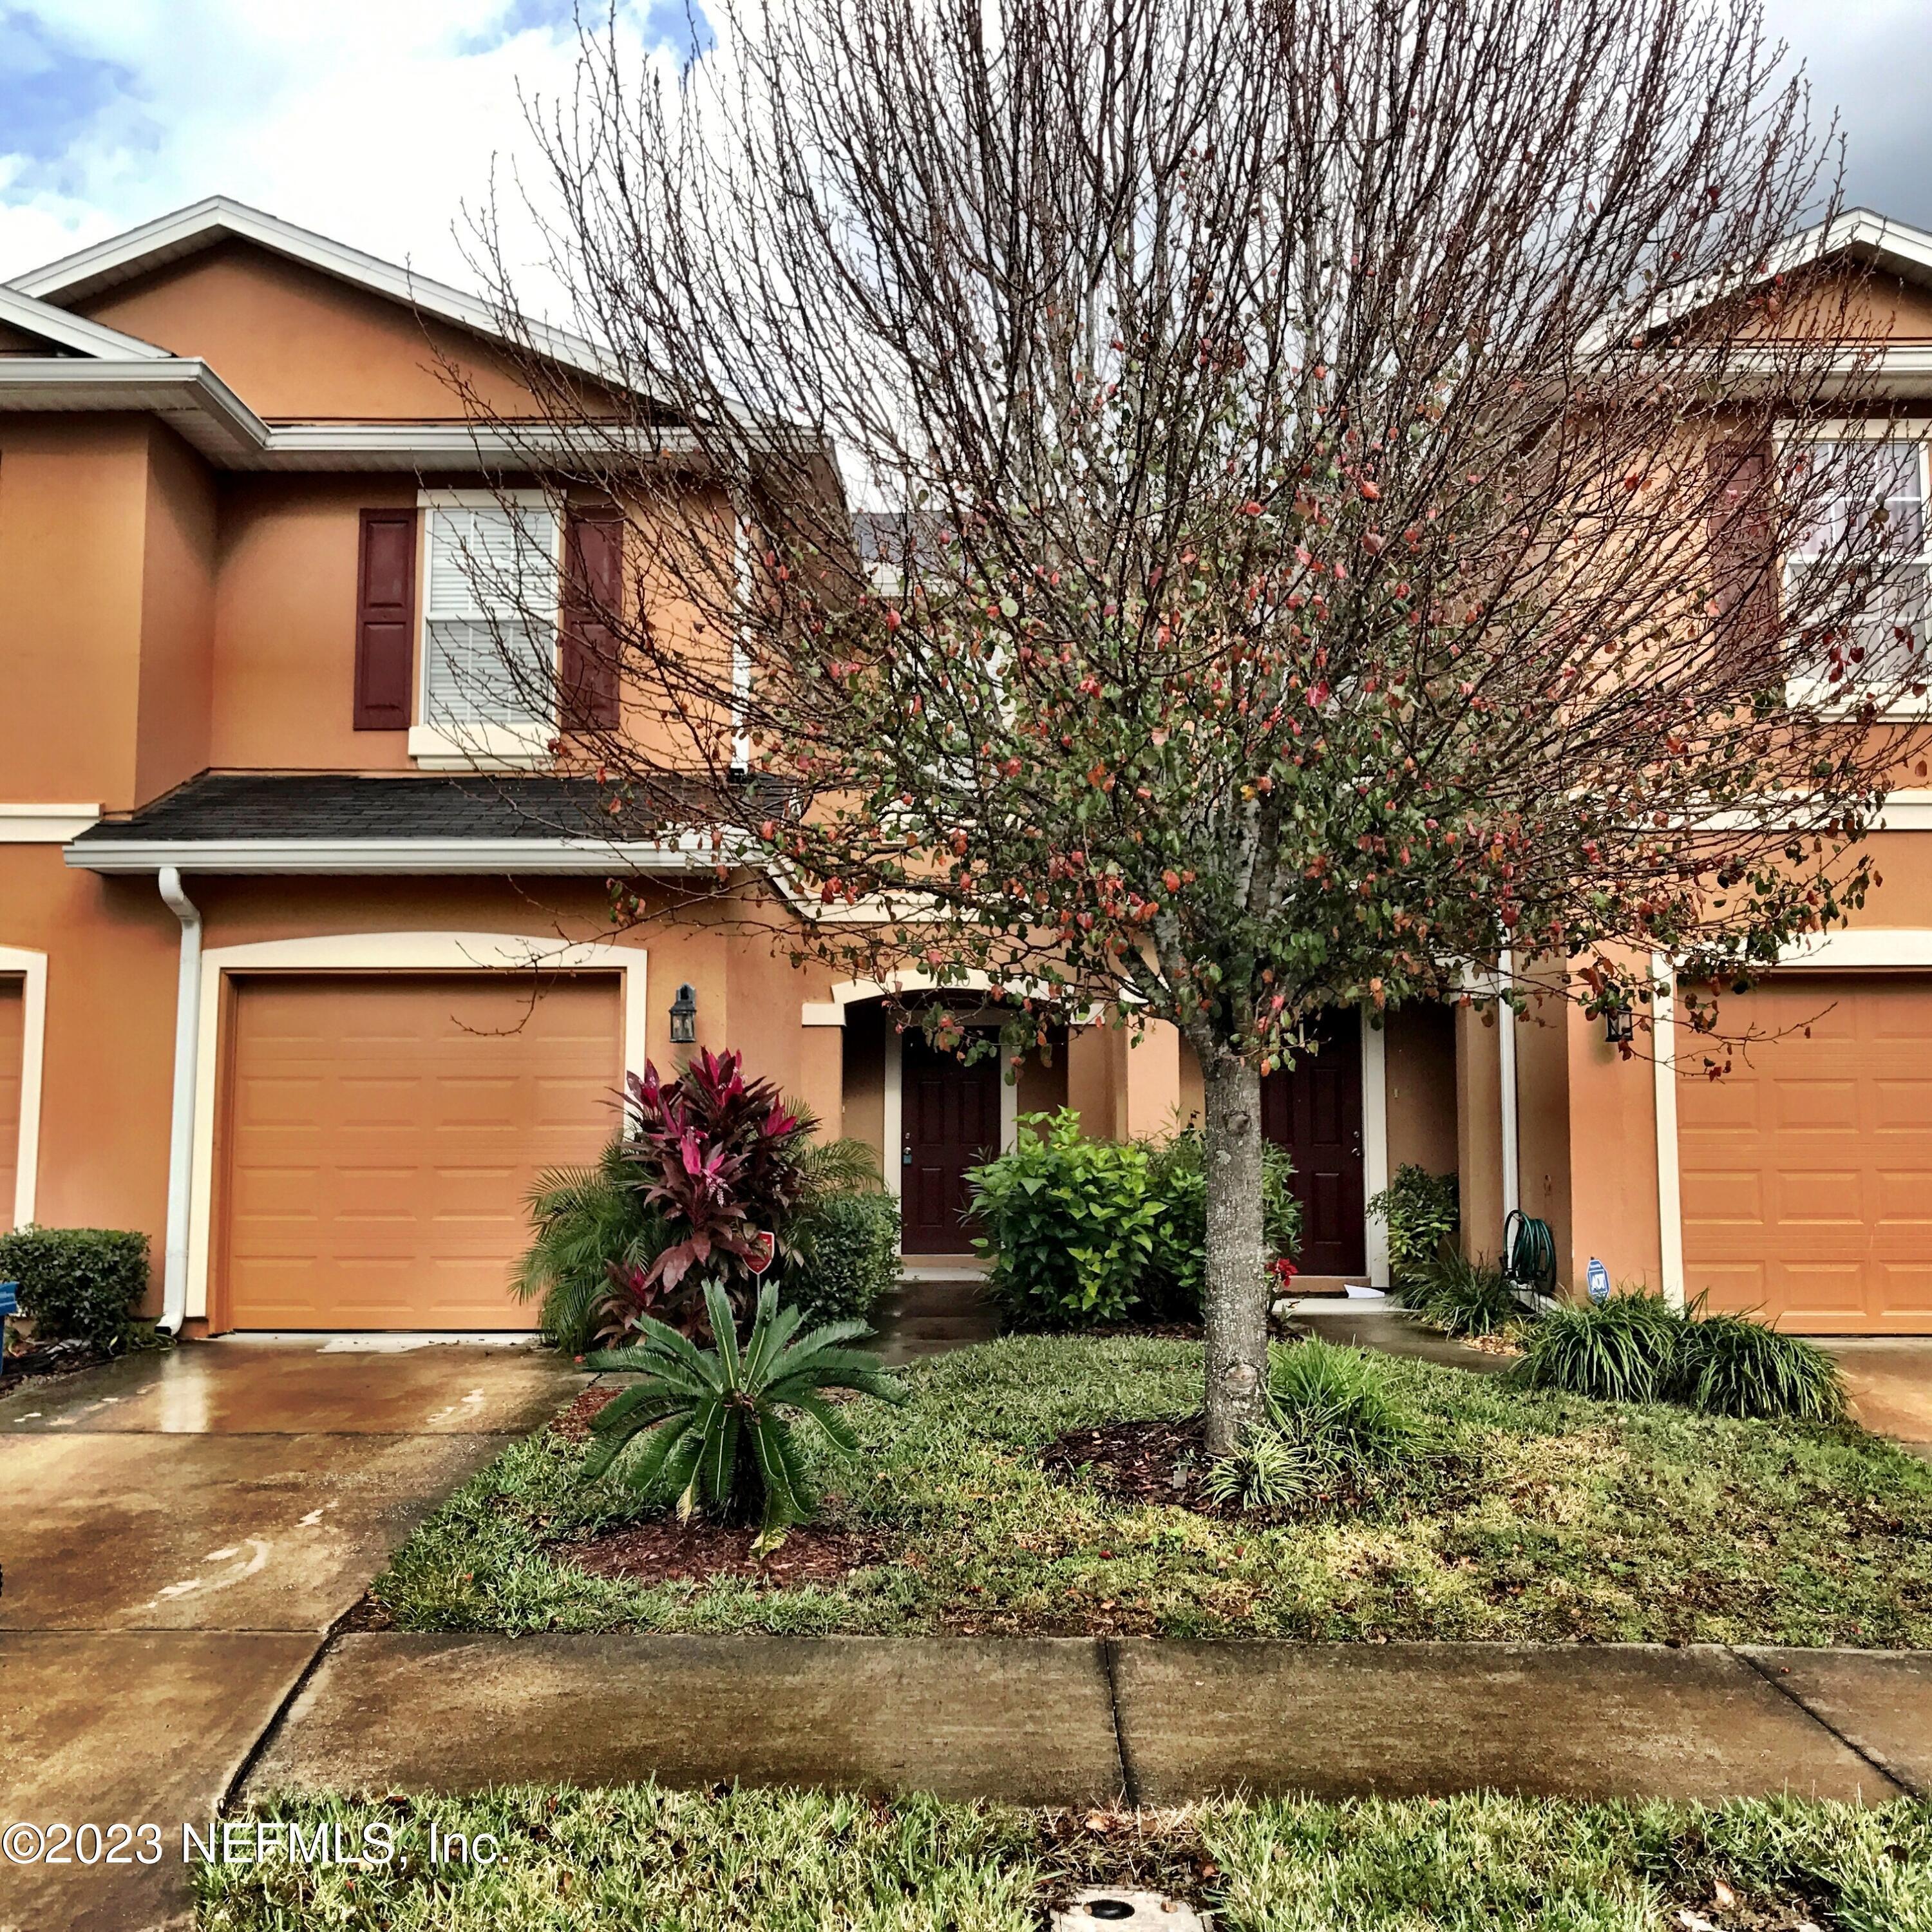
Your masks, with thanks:
M 1362 1213 L 1362 1022 L 1327 1014 L 1310 1049 L 1262 1082 L 1262 1132 L 1289 1150 L 1302 1204 L 1304 1275 L 1368 1267 Z

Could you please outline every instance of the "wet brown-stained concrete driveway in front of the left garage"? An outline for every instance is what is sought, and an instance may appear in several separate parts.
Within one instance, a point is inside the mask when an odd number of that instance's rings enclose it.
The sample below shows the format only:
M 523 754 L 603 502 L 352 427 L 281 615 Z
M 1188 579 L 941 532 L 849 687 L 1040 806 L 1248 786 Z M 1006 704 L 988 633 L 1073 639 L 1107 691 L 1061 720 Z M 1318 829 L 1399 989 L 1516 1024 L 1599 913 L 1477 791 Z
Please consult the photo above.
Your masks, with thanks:
M 160 1828 L 147 1866 L 139 1841 L 114 1866 L 0 1853 L 0 1926 L 185 1924 L 184 1822 L 388 1551 L 582 1383 L 527 1347 L 315 1337 L 0 1397 L 0 1830 Z

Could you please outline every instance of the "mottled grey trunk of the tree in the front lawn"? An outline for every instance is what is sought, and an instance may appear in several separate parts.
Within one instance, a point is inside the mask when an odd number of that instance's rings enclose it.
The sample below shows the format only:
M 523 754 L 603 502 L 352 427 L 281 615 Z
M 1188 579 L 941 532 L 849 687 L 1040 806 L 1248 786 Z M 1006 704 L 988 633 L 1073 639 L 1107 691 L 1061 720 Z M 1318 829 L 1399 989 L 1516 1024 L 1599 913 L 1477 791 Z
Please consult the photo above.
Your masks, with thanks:
M 1208 1101 L 1208 1453 L 1225 1455 L 1260 1418 L 1267 1389 L 1267 1267 L 1262 1254 L 1262 1076 L 1217 1055 Z

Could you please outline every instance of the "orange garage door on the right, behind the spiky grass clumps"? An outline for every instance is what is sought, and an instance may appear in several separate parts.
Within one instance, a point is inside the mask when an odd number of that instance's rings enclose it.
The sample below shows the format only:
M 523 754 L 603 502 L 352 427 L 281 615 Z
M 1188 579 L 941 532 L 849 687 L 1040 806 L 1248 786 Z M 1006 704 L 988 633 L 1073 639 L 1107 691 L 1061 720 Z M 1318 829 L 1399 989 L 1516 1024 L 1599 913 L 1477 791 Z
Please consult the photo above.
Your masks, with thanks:
M 1721 1005 L 1683 1080 L 1685 1285 L 1814 1335 L 1932 1331 L 1932 980 L 1787 974 Z

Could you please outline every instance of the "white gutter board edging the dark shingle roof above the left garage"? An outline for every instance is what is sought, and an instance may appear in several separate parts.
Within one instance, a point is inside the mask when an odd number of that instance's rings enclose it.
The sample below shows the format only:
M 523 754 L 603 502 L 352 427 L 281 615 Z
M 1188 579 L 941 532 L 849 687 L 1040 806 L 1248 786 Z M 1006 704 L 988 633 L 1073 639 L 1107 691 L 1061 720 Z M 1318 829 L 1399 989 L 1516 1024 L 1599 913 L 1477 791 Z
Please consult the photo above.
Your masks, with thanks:
M 709 871 L 730 864 L 697 840 L 601 844 L 587 838 L 91 838 L 70 844 L 75 871 L 153 873 L 591 873 Z

